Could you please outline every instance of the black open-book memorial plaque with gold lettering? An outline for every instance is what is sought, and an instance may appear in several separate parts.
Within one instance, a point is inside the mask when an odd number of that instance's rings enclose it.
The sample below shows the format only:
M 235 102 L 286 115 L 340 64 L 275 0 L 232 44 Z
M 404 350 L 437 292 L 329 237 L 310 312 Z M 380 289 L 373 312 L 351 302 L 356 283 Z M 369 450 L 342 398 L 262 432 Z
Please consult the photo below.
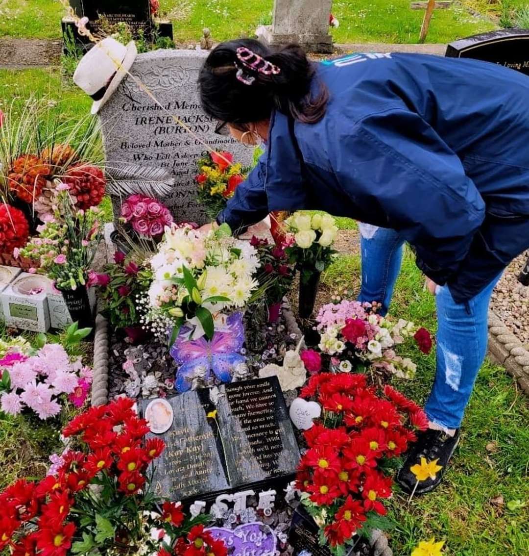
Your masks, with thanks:
M 142 414 L 150 401 L 141 401 Z M 208 499 L 295 473 L 300 451 L 277 377 L 222 385 L 216 406 L 207 389 L 167 401 L 174 413 L 171 428 L 147 435 L 166 443 L 154 468 L 156 494 Z M 214 418 L 208 417 L 215 409 Z

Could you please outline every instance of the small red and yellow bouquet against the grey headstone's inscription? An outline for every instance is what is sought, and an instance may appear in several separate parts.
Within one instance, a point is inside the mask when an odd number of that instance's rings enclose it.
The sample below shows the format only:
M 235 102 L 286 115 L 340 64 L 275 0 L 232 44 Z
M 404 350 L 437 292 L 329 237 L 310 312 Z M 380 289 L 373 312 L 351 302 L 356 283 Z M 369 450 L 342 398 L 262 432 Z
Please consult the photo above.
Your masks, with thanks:
M 198 185 L 198 201 L 212 220 L 233 197 L 239 183 L 246 179 L 246 169 L 233 163 L 231 152 L 208 152 L 197 161 L 199 174 L 194 178 Z

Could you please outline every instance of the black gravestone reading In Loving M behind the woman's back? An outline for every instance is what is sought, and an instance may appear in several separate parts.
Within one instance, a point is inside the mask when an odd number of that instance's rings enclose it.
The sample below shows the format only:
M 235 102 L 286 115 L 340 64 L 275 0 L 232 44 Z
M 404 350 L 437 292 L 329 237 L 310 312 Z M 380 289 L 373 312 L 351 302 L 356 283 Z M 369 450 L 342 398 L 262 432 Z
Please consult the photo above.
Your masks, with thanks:
M 493 62 L 529 75 L 529 30 L 502 29 L 448 44 L 446 56 Z

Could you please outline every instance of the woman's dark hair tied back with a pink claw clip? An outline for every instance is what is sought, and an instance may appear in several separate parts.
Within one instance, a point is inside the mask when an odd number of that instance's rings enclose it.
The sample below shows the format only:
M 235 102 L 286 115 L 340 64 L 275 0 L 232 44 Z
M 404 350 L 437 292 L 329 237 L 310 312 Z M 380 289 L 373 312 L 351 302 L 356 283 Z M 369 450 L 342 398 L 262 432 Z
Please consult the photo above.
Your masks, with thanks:
M 237 58 L 237 48 L 248 48 L 280 69 L 277 74 L 245 67 Z M 251 85 L 238 80 L 239 69 Z M 253 80 L 252 80 L 253 78 Z M 325 115 L 327 88 L 311 86 L 315 67 L 305 51 L 290 44 L 272 52 L 254 39 L 238 39 L 219 44 L 204 62 L 198 76 L 202 107 L 209 116 L 236 127 L 270 118 L 277 109 L 303 123 L 316 123 Z

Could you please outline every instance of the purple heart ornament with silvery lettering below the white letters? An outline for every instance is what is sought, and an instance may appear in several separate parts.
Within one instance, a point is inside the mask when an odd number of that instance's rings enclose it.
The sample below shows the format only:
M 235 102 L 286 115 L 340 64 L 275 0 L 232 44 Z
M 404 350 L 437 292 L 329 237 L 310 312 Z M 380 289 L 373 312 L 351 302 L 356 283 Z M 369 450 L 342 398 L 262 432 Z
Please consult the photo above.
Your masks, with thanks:
M 277 537 L 268 525 L 252 522 L 239 525 L 235 529 L 209 527 L 206 529 L 215 540 L 226 544 L 229 556 L 275 556 Z

